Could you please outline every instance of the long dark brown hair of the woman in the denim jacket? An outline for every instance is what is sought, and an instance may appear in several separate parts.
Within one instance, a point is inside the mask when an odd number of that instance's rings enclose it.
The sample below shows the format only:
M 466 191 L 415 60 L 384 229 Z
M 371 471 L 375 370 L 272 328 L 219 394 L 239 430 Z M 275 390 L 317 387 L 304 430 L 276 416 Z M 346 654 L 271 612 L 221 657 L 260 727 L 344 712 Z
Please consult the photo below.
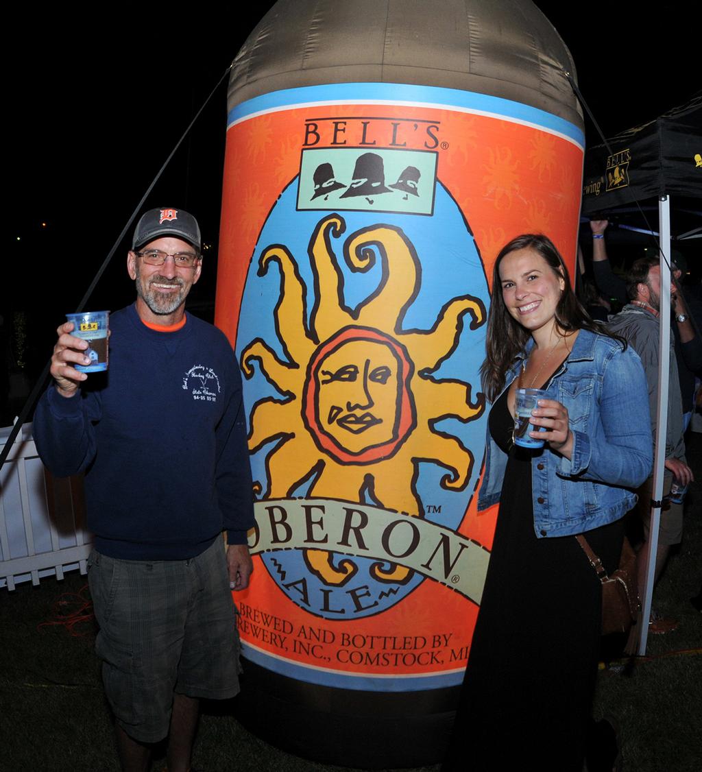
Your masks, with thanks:
M 565 279 L 565 288 L 561 292 L 561 298 L 558 300 L 555 310 L 556 324 L 561 330 L 565 332 L 589 330 L 592 333 L 612 337 L 622 344 L 622 348 L 626 348 L 626 341 L 617 335 L 612 335 L 603 325 L 594 322 L 582 303 L 575 297 L 575 293 L 571 289 L 568 268 L 551 239 L 541 234 L 524 233 L 500 249 L 500 254 L 497 255 L 493 267 L 493 293 L 490 313 L 487 317 L 487 356 L 480 367 L 483 390 L 490 401 L 493 401 L 497 394 L 502 391 L 507 370 L 517 354 L 524 350 L 527 340 L 531 337 L 529 330 L 522 327 L 511 316 L 502 297 L 500 262 L 510 252 L 515 252 L 517 249 L 534 249 L 534 252 L 538 252 L 544 258 L 559 279 L 561 277 Z

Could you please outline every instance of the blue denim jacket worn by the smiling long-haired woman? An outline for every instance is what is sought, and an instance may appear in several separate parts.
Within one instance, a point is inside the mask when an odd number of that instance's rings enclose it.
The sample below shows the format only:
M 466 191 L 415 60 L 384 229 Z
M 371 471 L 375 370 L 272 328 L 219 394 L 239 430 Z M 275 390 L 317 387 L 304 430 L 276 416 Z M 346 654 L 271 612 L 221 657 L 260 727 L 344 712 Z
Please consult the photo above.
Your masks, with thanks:
M 527 348 L 507 373 L 517 376 Z M 504 392 L 504 389 L 503 389 Z M 570 536 L 618 520 L 636 503 L 630 489 L 650 475 L 653 442 L 646 376 L 631 346 L 580 330 L 573 350 L 551 378 L 549 399 L 568 408 L 571 459 L 545 445 L 531 460 L 534 531 L 537 537 Z M 490 431 L 478 509 L 500 500 L 507 454 Z

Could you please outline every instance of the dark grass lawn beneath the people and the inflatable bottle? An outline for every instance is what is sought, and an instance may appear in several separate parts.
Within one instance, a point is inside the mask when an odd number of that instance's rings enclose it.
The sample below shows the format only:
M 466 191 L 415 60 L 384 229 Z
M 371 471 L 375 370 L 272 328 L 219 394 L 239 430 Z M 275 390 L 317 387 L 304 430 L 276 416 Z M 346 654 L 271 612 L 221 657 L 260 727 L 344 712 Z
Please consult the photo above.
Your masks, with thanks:
M 650 636 L 645 658 L 609 662 L 598 677 L 595 717 L 615 717 L 628 772 L 702 768 L 702 614 L 689 601 L 702 582 L 702 435 L 694 435 L 688 455 L 697 482 L 688 494 L 684 542 L 654 595 L 656 610 L 680 625 L 667 635 Z M 118 770 L 85 584 L 85 577 L 72 574 L 63 582 L 0 590 L 0 772 Z M 72 629 L 45 624 L 69 615 L 78 618 Z M 202 717 L 195 767 L 348 772 L 263 743 L 229 708 L 213 708 Z M 154 770 L 162 767 L 155 764 Z

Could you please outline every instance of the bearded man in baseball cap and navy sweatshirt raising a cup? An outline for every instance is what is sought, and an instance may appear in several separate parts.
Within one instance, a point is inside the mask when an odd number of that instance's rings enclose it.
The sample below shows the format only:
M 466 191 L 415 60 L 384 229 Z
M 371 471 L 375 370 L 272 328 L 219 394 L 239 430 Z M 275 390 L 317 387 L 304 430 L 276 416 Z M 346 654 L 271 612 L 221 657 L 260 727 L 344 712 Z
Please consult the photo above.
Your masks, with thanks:
M 230 589 L 253 567 L 253 489 L 232 348 L 185 313 L 201 242 L 182 209 L 141 217 L 127 254 L 137 299 L 110 317 L 109 371 L 76 370 L 87 344 L 62 324 L 34 418 L 45 465 L 85 472 L 96 651 L 124 770 L 147 770 L 166 736 L 169 772 L 188 770 L 199 699 L 239 692 Z

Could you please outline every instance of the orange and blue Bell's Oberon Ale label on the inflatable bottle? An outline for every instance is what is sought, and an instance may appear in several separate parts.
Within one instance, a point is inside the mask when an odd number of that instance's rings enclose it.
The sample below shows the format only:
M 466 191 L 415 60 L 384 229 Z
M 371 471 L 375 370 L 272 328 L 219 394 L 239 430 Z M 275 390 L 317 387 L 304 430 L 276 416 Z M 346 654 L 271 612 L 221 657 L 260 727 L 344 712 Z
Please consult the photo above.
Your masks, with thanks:
M 256 528 L 243 651 L 344 689 L 460 683 L 497 251 L 571 264 L 582 133 L 476 93 L 347 83 L 229 114 L 216 322 L 242 369 Z

